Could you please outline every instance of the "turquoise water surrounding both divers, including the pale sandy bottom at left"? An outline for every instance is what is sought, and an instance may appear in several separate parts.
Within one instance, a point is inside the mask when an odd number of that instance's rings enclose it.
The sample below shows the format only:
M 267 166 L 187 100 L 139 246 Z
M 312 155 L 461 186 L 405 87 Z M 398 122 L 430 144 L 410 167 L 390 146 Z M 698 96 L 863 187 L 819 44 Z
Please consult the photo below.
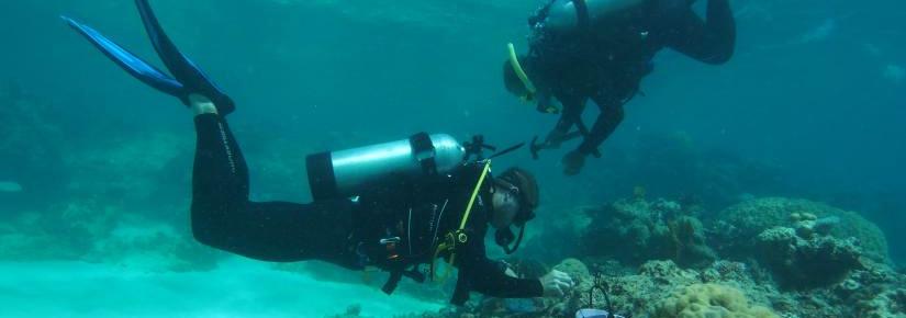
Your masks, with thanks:
M 153 1 L 174 41 L 237 102 L 230 120 L 253 196 L 295 202 L 310 200 L 303 159 L 314 151 L 418 130 L 499 146 L 545 135 L 557 118 L 507 95 L 500 78 L 505 44 L 525 48 L 538 4 Z M 734 59 L 712 67 L 660 54 L 646 95 L 581 175 L 560 173 L 563 150 L 496 164 L 539 175 L 541 219 L 637 186 L 715 212 L 743 196 L 803 197 L 860 212 L 906 262 L 906 4 L 732 4 Z M 156 56 L 132 1 L 0 3 L 0 305 L 10 310 L 0 316 L 321 317 L 360 304 L 384 317 L 444 305 L 444 293 L 388 298 L 359 273 L 318 280 L 191 241 L 190 112 L 114 67 L 59 14 Z M 123 234 L 149 224 L 152 234 Z

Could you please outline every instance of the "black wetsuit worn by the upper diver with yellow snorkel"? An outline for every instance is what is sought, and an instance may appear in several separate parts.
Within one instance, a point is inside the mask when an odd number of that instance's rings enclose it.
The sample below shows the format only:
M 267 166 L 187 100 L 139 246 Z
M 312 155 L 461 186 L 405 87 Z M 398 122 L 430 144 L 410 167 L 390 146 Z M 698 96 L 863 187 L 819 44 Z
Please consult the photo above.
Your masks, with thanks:
M 543 19 L 532 20 L 527 64 L 533 80 L 563 104 L 557 129 L 568 132 L 588 99 L 601 109 L 580 152 L 593 154 L 616 129 L 624 117 L 623 105 L 639 91 L 641 79 L 652 70 L 651 59 L 661 49 L 669 47 L 707 64 L 730 59 L 736 22 L 728 0 L 707 0 L 704 21 L 689 2 L 647 0 L 568 33 L 550 32 Z M 539 14 L 546 14 L 545 10 Z

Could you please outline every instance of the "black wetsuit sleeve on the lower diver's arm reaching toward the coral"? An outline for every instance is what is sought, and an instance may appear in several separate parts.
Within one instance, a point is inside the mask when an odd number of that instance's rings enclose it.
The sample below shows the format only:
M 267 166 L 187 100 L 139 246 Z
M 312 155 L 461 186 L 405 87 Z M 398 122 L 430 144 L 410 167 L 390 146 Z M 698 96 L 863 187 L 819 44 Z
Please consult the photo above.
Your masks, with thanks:
M 529 298 L 544 295 L 541 282 L 511 277 L 505 268 L 488 259 L 484 251 L 484 238 L 476 238 L 469 245 L 468 253 L 459 264 L 459 281 L 454 293 L 452 303 L 462 305 L 468 300 L 469 291 L 501 298 Z

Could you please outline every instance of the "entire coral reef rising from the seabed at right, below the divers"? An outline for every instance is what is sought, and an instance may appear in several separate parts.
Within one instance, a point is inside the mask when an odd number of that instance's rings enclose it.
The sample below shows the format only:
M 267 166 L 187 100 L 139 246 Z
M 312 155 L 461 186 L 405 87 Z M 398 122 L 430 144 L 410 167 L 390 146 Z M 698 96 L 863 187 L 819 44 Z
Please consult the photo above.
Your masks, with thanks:
M 700 211 L 644 195 L 583 211 L 591 223 L 578 259 L 553 266 L 577 282 L 564 297 L 485 297 L 407 317 L 572 317 L 605 306 L 605 292 L 613 311 L 634 317 L 906 317 L 906 274 L 887 264 L 876 227 L 852 212 L 754 198 L 706 217 L 703 230 Z M 693 266 L 665 252 L 708 245 L 719 259 L 711 252 Z

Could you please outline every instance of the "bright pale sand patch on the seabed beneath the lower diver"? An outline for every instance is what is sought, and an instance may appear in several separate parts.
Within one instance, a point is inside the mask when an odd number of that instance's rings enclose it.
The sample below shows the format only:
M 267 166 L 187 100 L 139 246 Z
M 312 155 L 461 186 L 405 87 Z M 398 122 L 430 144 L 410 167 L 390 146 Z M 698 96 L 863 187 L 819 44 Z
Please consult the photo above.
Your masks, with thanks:
M 324 317 L 351 304 L 361 305 L 362 316 L 389 317 L 441 306 L 238 258 L 211 272 L 0 262 L 0 317 Z

